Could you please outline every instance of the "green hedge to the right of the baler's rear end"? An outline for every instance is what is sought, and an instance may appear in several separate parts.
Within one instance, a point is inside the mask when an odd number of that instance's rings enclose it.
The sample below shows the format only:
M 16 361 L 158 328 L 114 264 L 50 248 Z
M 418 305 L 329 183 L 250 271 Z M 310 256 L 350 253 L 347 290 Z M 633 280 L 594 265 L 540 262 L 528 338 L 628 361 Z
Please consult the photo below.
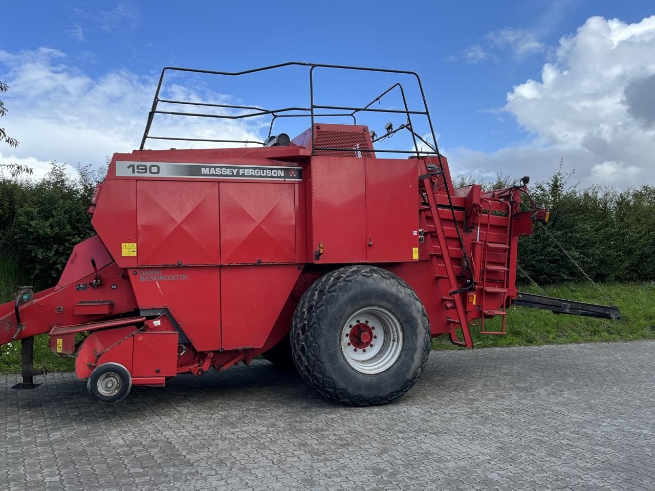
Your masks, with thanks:
M 556 240 L 593 280 L 655 278 L 655 187 L 581 189 L 571 185 L 571 178 L 572 173 L 563 172 L 560 165 L 550 179 L 529 185 L 534 201 L 550 210 L 550 221 L 545 227 L 535 224 L 533 234 L 519 240 L 519 266 L 538 283 L 584 278 Z M 460 178 L 455 185 L 472 182 L 471 177 Z M 517 182 L 499 175 L 495 183 L 483 187 L 498 189 Z

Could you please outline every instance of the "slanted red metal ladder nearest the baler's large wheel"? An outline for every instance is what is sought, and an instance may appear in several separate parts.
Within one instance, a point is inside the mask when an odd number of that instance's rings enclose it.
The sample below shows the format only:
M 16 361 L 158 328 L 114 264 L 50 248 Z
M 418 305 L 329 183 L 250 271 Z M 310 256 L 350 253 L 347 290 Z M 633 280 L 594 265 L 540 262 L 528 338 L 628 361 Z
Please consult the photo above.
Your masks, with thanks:
M 455 271 L 453 270 L 450 251 L 441 224 L 439 209 L 437 208 L 434 191 L 432 191 L 432 176 L 438 175 L 441 171 L 429 173 L 425 160 L 419 160 L 419 166 L 421 170 L 419 177 L 419 198 L 420 202 L 427 200 L 428 203 L 428 206 L 421 206 L 419 208 L 419 226 L 423 229 L 424 243 L 430 255 L 430 262 L 434 270 L 441 303 L 446 311 L 449 337 L 451 342 L 457 346 L 472 348 L 473 340 L 468 328 L 462 295 L 460 293 L 451 295 L 451 291 L 458 288 L 457 278 L 455 278 Z M 464 340 L 460 340 L 458 337 L 457 329 L 461 329 Z

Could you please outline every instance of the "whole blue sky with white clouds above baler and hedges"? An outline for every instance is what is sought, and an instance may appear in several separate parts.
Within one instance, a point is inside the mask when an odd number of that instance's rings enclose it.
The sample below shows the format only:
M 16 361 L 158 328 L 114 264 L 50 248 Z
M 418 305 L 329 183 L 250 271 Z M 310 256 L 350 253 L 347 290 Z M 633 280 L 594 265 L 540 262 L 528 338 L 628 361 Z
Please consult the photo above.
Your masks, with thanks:
M 0 80 L 10 84 L 10 112 L 0 122 L 21 142 L 0 147 L 5 160 L 96 164 L 138 147 L 165 65 L 237 71 L 293 60 L 417 71 L 456 172 L 540 178 L 565 157 L 584 185 L 655 181 L 639 157 L 652 145 L 651 115 L 638 114 L 655 74 L 652 2 L 69 1 L 34 10 L 3 6 Z M 552 84 L 542 78 L 549 70 Z M 367 81 L 326 81 L 332 103 L 379 92 L 375 84 L 366 92 Z M 597 81 L 604 86 L 576 94 Z M 246 94 L 230 83 L 191 84 L 184 96 L 267 106 L 306 86 L 297 73 L 266 90 L 246 82 Z M 634 155 L 624 153 L 628 143 Z

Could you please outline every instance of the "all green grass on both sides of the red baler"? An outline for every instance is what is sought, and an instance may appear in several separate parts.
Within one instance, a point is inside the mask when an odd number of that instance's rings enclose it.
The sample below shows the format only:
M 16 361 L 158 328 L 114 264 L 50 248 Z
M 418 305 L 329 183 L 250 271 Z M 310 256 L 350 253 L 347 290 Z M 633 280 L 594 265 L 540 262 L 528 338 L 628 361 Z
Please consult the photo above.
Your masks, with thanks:
M 14 291 L 22 280 L 24 275 L 18 262 L 12 257 L 3 257 L 0 260 L 0 302 L 12 300 Z M 507 316 L 507 334 L 480 335 L 475 328 L 472 328 L 474 346 L 487 348 L 655 338 L 655 282 L 606 283 L 601 286 L 616 301 L 623 317 L 621 321 L 555 315 L 547 310 L 512 307 Z M 528 287 L 523 290 L 541 293 Z M 604 303 L 589 283 L 550 285 L 548 294 L 563 299 Z M 485 324 L 486 329 L 493 331 L 499 327 L 500 318 L 497 316 Z M 447 336 L 432 340 L 432 348 L 458 349 L 449 342 Z M 47 335 L 35 338 L 34 358 L 35 367 L 47 368 L 48 371 L 75 369 L 74 359 L 61 358 L 52 353 L 48 346 Z M 18 372 L 20 372 L 20 341 L 0 346 L 0 374 Z

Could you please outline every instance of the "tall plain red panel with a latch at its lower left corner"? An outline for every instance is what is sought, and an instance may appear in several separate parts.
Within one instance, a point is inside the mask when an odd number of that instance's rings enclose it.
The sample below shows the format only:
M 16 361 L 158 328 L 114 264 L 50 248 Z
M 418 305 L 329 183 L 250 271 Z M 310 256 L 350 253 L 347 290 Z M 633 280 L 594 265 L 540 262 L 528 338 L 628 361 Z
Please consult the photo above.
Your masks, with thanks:
M 314 263 L 365 263 L 366 196 L 364 158 L 312 157 L 311 251 L 324 244 Z

